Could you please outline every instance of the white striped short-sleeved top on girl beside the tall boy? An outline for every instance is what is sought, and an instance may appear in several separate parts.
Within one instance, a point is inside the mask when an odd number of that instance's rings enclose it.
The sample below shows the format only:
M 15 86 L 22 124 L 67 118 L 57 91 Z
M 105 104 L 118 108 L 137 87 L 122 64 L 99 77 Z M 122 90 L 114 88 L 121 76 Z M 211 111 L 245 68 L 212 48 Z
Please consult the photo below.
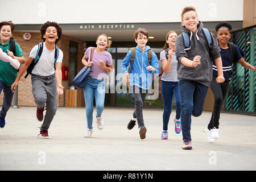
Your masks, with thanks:
M 166 59 L 166 51 L 163 50 L 160 52 L 160 60 Z M 168 72 L 168 74 L 163 72 L 161 80 L 163 81 L 179 81 L 177 80 L 177 59 L 175 52 L 172 53 L 172 63 L 171 63 L 171 68 Z

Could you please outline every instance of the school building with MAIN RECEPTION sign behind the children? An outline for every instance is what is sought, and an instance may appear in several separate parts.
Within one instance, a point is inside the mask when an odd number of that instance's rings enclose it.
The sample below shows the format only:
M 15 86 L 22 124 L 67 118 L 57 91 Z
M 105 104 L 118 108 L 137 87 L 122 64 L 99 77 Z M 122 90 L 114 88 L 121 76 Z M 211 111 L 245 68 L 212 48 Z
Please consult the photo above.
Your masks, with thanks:
M 5 6 L 4 2 L 0 5 Z M 3 9 L 0 20 L 11 20 L 15 24 L 13 37 L 23 49 L 27 59 L 32 47 L 42 42 L 41 24 L 55 21 L 63 28 L 63 35 L 57 46 L 63 51 L 63 96 L 57 96 L 58 106 L 85 106 L 84 93 L 74 89 L 73 78 L 83 67 L 81 59 L 86 48 L 96 47 L 96 38 L 106 34 L 112 40 L 108 51 L 113 57 L 114 72 L 109 74 L 106 82 L 105 106 L 134 106 L 134 99 L 129 93 L 110 92 L 121 82 L 116 76 L 122 73 L 121 63 L 131 47 L 137 46 L 133 33 L 138 28 L 146 28 L 150 34 L 147 45 L 152 48 L 159 59 L 168 31 L 181 33 L 181 11 L 185 6 L 195 6 L 199 20 L 211 32 L 216 33 L 215 26 L 220 21 L 228 21 L 233 26 L 231 41 L 246 52 L 245 59 L 251 65 L 255 63 L 256 0 L 216 0 L 182 2 L 135 1 L 15 1 L 9 0 L 8 9 Z M 160 61 L 159 61 L 160 63 Z M 256 73 L 244 69 L 240 64 L 233 68 L 229 94 L 223 110 L 256 115 Z M 112 75 L 111 75 L 112 74 Z M 24 74 L 25 75 L 25 74 Z M 114 77 L 114 79 L 110 79 Z M 115 79 L 117 78 L 117 80 Z M 32 96 L 31 77 L 24 76 L 19 81 L 14 95 L 14 106 L 35 106 Z M 159 80 L 159 97 L 152 100 L 148 95 L 145 107 L 163 107 L 161 81 Z M 3 93 L 0 100 L 2 101 Z M 208 90 L 204 110 L 212 110 L 213 94 Z M 1 104 L 1 103 L 0 103 Z M 175 102 L 174 102 L 175 104 Z

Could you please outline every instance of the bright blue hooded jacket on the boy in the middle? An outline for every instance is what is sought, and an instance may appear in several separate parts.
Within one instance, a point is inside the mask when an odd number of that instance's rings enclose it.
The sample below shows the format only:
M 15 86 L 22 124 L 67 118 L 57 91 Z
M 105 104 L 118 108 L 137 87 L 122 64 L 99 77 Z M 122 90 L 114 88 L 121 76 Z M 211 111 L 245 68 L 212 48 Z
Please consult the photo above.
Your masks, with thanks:
M 139 88 L 148 90 L 152 84 L 152 74 L 159 74 L 158 57 L 154 52 L 152 52 L 151 66 L 155 68 L 155 71 L 152 72 L 147 70 L 147 67 L 149 66 L 147 52 L 149 49 L 150 47 L 146 46 L 146 49 L 142 52 L 139 46 L 135 48 L 135 58 L 129 73 L 130 86 L 135 85 Z M 131 64 L 131 51 L 127 52 L 127 55 L 121 64 L 123 73 L 128 72 L 127 67 L 129 63 Z

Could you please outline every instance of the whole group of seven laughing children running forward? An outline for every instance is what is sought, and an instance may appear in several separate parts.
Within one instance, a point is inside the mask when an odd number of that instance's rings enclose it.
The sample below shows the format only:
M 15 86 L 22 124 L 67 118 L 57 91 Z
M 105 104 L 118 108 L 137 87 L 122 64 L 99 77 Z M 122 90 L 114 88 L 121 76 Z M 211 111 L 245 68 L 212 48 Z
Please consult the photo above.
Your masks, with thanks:
M 30 74 L 32 94 L 37 106 L 36 117 L 38 121 L 43 121 L 39 135 L 42 138 L 49 138 L 48 129 L 57 110 L 57 94 L 62 95 L 64 88 L 61 84 L 63 52 L 56 46 L 61 38 L 62 30 L 56 22 L 44 23 L 40 29 L 43 43 L 34 46 L 25 61 L 19 44 L 11 38 L 14 27 L 15 25 L 11 22 L 0 22 L 0 93 L 3 90 L 4 94 L 0 110 L 0 127 L 5 126 L 6 113 L 13 101 L 14 90 L 18 86 L 20 77 L 32 64 L 34 68 Z M 163 51 L 160 52 L 164 104 L 161 139 L 168 139 L 168 122 L 174 95 L 175 132 L 179 134 L 182 131 L 182 148 L 191 150 L 191 115 L 199 117 L 202 114 L 208 88 L 214 94 L 214 106 L 205 133 L 208 142 L 213 143 L 214 139 L 219 138 L 220 110 L 228 91 L 233 64 L 239 62 L 243 67 L 253 71 L 256 70 L 256 67 L 246 63 L 241 49 L 228 42 L 232 30 L 232 25 L 228 22 L 218 23 L 217 34 L 214 35 L 203 27 L 195 7 L 189 6 L 184 7 L 181 13 L 181 30 L 183 33 L 180 35 L 177 35 L 175 31 L 167 33 Z M 133 129 L 137 121 L 139 136 L 144 139 L 147 129 L 143 119 L 143 102 L 152 84 L 152 75 L 159 74 L 159 63 L 155 53 L 146 45 L 148 32 L 145 29 L 139 28 L 135 31 L 134 39 L 137 43 L 135 57 L 132 59 L 132 51 L 128 51 L 121 65 L 125 74 L 123 83 L 133 89 L 135 98 L 135 110 L 127 129 Z M 108 36 L 99 35 L 96 44 L 96 48 L 87 48 L 82 58 L 82 64 L 91 69 L 84 86 L 87 119 L 84 137 L 90 137 L 93 132 L 94 98 L 97 127 L 100 130 L 104 128 L 101 114 L 104 110 L 105 78 L 107 77 L 106 73 L 113 70 L 112 55 L 106 51 L 111 45 Z M 152 54 L 150 63 L 148 62 L 148 53 Z M 129 65 L 130 67 L 127 69 Z M 43 114 L 44 110 L 46 110 L 45 115 Z

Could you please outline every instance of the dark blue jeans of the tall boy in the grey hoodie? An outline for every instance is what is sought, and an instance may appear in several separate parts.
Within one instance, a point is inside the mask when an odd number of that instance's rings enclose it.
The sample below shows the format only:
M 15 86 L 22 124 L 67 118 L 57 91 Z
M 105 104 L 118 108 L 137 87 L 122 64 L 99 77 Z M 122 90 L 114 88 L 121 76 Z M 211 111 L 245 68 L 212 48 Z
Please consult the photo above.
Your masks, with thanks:
M 181 131 L 184 142 L 191 140 L 191 115 L 199 117 L 204 109 L 208 86 L 196 81 L 179 81 L 181 94 Z

